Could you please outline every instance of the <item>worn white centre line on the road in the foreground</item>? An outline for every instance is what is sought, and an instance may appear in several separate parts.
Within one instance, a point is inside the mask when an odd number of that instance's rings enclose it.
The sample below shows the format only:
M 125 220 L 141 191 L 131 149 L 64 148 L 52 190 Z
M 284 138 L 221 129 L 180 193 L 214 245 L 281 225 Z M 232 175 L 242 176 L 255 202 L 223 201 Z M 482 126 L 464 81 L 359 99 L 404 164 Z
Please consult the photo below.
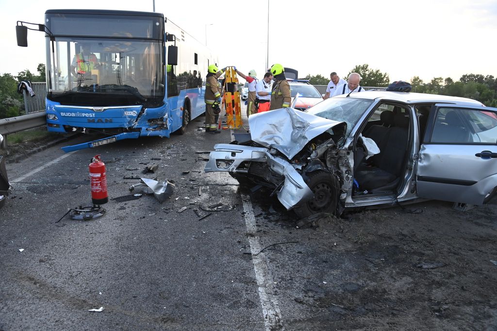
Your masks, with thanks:
M 255 216 L 253 214 L 252 202 L 250 197 L 245 194 L 241 194 L 243 205 L 244 205 L 244 215 L 245 224 L 247 226 L 247 231 L 253 234 L 253 237 L 248 237 L 248 242 L 250 244 L 250 252 L 252 253 L 252 263 L 253 269 L 255 271 L 255 280 L 257 281 L 257 286 L 259 289 L 259 299 L 262 306 L 262 316 L 264 318 L 264 326 L 266 331 L 273 330 L 284 330 L 283 322 L 281 318 L 281 312 L 278 306 L 278 299 L 274 295 L 275 286 L 273 282 L 273 277 L 267 266 L 267 260 L 264 253 L 257 256 L 255 254 L 259 253 L 261 250 L 259 238 L 255 236 L 257 233 L 257 227 L 255 226 Z

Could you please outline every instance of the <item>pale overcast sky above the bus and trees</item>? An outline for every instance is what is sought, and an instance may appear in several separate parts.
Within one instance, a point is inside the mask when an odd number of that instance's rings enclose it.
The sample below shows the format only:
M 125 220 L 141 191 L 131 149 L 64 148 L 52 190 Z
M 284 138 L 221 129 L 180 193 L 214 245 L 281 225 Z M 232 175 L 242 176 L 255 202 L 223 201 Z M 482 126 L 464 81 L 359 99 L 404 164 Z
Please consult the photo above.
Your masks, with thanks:
M 213 5 L 215 4 L 215 6 Z M 28 31 L 17 47 L 17 20 L 42 23 L 47 9 L 152 11 L 152 0 L 0 0 L 3 49 L 0 73 L 36 73 L 45 63 L 44 36 Z M 267 0 L 156 0 L 156 11 L 214 49 L 220 66 L 244 73 L 265 69 Z M 269 64 L 345 76 L 355 65 L 387 72 L 390 80 L 458 80 L 465 73 L 497 76 L 496 0 L 318 1 L 269 0 Z M 229 16 L 228 16 L 229 15 Z M 233 21 L 231 23 L 230 21 Z M 206 24 L 213 24 L 207 25 Z

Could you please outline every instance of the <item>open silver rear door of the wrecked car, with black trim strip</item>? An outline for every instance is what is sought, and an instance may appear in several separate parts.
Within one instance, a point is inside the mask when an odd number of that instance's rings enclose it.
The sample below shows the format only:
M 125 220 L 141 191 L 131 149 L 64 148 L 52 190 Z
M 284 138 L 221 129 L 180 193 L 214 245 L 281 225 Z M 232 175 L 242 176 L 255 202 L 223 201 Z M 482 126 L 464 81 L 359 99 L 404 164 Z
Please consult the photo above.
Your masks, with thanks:
M 420 198 L 482 204 L 497 188 L 497 109 L 436 104 L 420 146 Z

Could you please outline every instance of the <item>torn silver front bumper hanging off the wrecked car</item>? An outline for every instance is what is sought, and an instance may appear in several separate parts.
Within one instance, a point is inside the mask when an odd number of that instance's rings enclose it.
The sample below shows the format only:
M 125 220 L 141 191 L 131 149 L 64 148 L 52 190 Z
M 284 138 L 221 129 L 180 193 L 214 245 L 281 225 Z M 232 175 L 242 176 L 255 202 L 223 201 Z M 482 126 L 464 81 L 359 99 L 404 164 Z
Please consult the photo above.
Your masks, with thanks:
M 279 156 L 272 155 L 265 147 L 216 144 L 204 171 L 225 171 L 235 176 L 248 175 L 250 164 L 253 162 L 259 162 L 266 167 L 271 175 L 281 176 L 280 183 L 274 184 L 278 189 L 278 199 L 288 210 L 314 196 L 292 164 Z

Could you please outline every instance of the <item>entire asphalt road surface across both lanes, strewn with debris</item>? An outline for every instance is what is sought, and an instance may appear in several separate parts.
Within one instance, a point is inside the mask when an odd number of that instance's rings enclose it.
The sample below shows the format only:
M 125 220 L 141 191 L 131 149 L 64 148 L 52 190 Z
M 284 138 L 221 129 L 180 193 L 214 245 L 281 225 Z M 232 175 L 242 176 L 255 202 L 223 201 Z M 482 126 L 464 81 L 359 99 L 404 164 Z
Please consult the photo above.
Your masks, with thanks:
M 0 331 L 497 328 L 497 201 L 466 213 L 431 201 L 414 206 L 421 214 L 390 208 L 297 228 L 267 192 L 203 173 L 207 154 L 196 152 L 231 132 L 202 126 L 70 154 L 55 146 L 7 165 Z M 130 176 L 173 181 L 174 193 L 163 203 L 110 200 L 101 218 L 57 222 L 90 204 L 95 154 L 111 199 L 130 194 L 139 182 Z M 158 171 L 143 175 L 146 162 Z M 432 261 L 446 266 L 416 266 Z

